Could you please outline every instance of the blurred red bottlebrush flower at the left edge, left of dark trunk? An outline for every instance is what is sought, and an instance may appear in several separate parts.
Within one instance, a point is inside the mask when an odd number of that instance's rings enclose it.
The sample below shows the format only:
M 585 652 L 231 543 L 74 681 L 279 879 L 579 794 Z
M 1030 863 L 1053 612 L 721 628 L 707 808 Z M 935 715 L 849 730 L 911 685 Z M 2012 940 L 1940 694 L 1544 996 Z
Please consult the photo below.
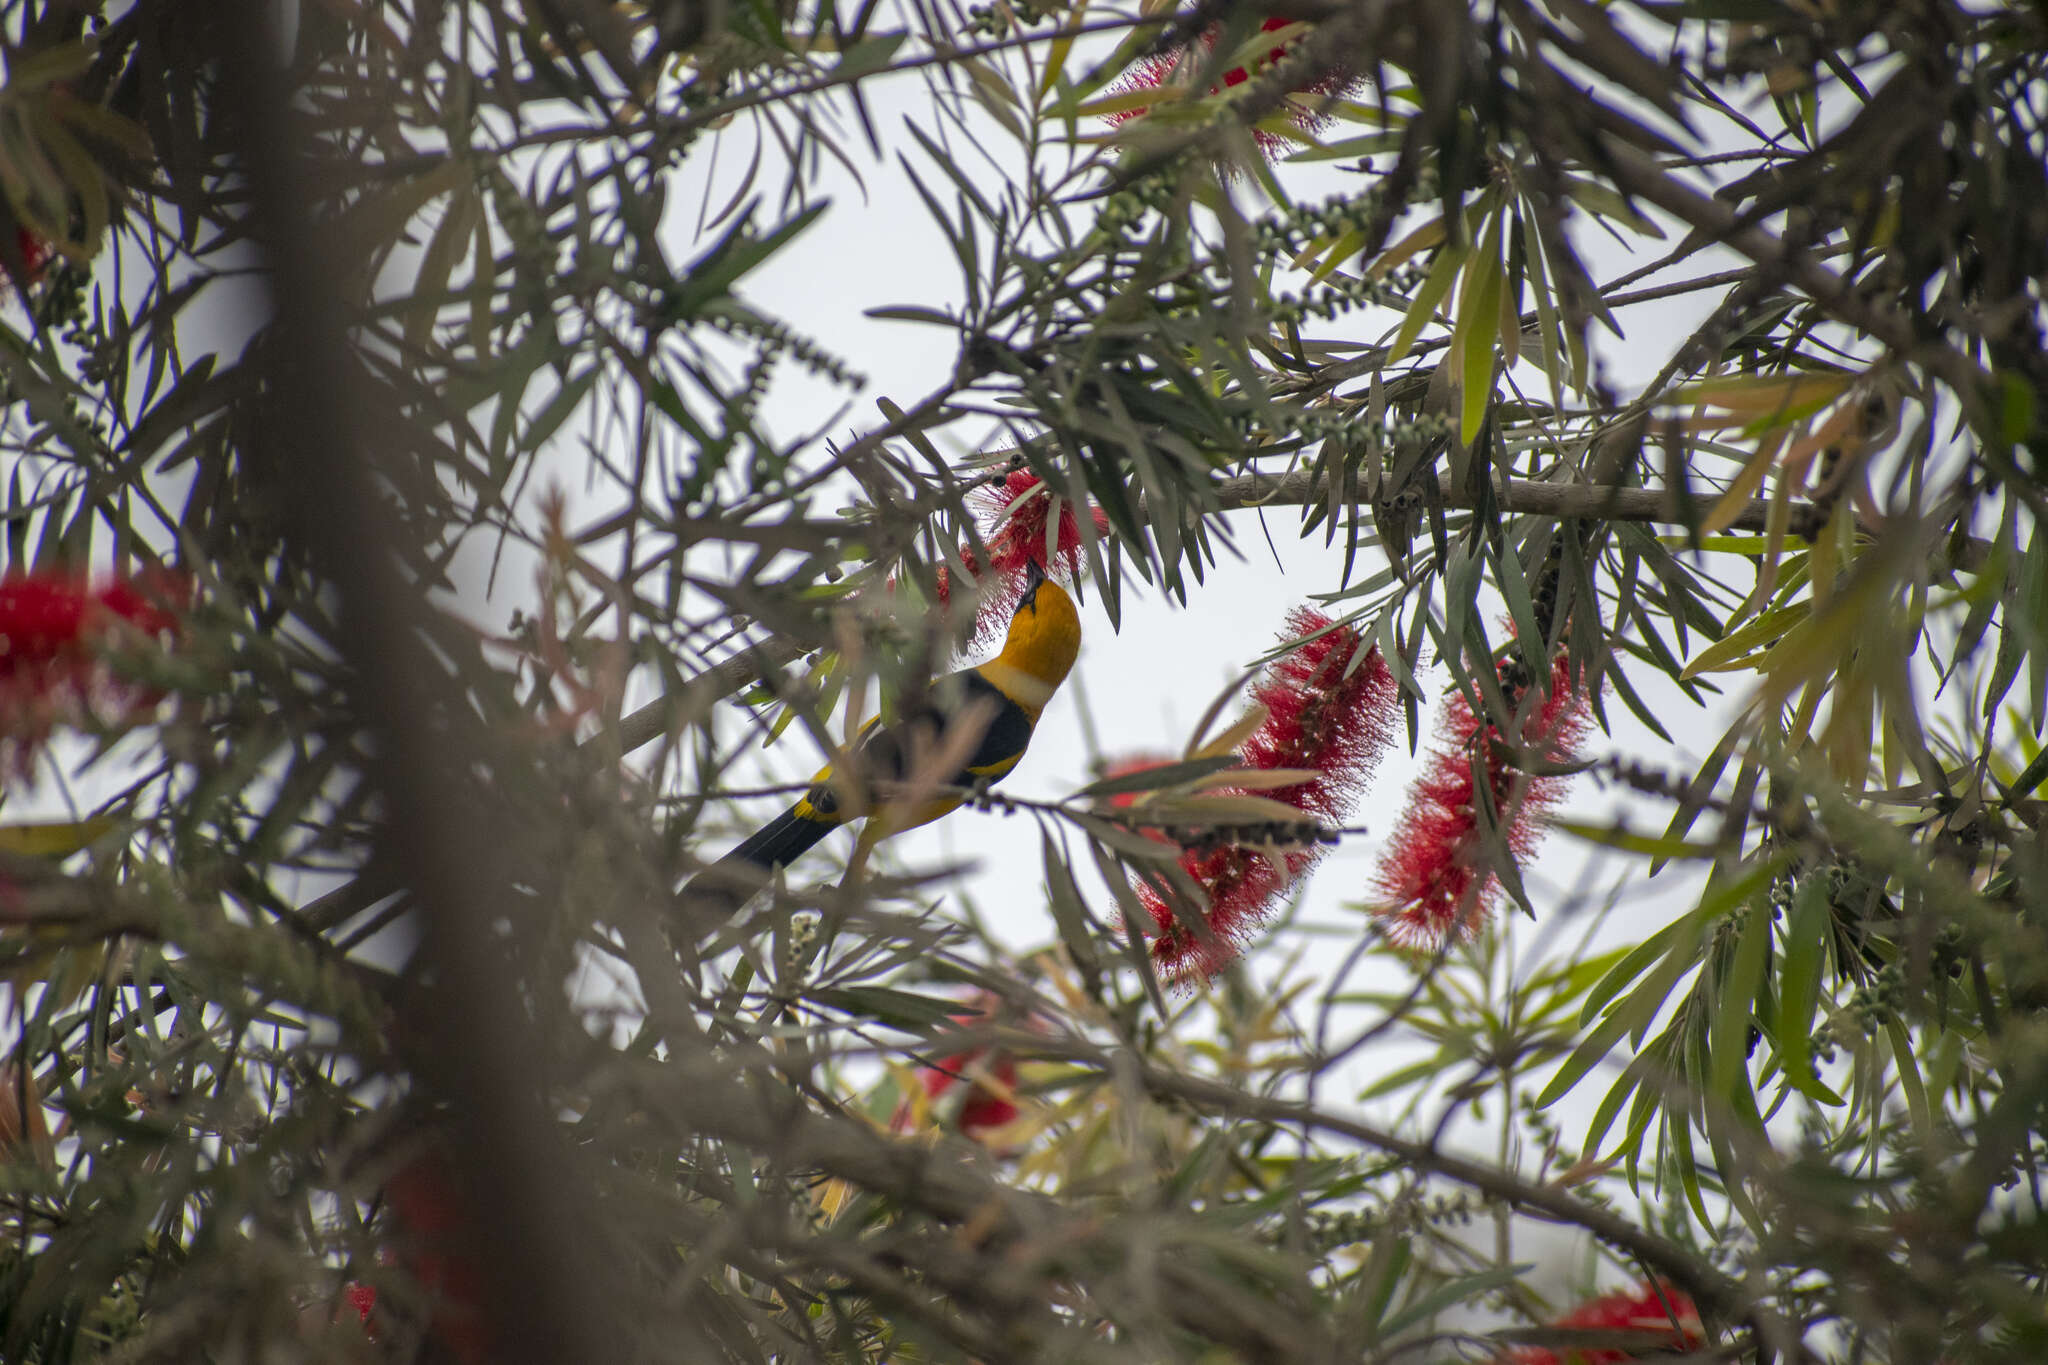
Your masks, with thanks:
M 66 571 L 0 577 L 0 761 L 27 774 L 57 724 L 125 724 L 162 696 L 109 657 L 176 636 L 190 583 L 164 573 L 94 587 Z

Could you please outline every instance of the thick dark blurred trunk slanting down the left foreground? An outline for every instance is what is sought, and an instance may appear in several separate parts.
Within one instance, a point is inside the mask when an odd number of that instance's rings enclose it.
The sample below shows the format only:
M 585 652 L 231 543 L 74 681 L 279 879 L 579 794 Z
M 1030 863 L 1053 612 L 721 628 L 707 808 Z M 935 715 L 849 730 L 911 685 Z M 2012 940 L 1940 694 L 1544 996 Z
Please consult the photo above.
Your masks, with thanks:
M 436 622 L 401 569 L 406 522 L 381 493 L 377 452 L 401 450 L 387 395 L 362 377 L 346 342 L 334 280 L 315 246 L 313 139 L 285 88 L 283 51 L 264 6 L 231 6 L 219 25 L 221 104 L 248 176 L 268 327 L 268 397 L 254 475 L 340 598 L 336 645 L 350 665 L 350 710 L 373 743 L 383 806 L 377 841 L 422 909 L 422 956 L 434 978 L 399 1042 L 451 1101 L 473 1181 L 494 1359 L 569 1361 L 616 1355 L 618 1314 L 594 1271 L 596 1230 L 565 1171 L 559 1128 L 532 1083 L 530 1019 L 504 978 L 494 923 L 514 898 L 502 847 L 514 827 L 489 772 L 487 737 L 434 653 Z M 403 485 L 403 479 L 393 479 Z

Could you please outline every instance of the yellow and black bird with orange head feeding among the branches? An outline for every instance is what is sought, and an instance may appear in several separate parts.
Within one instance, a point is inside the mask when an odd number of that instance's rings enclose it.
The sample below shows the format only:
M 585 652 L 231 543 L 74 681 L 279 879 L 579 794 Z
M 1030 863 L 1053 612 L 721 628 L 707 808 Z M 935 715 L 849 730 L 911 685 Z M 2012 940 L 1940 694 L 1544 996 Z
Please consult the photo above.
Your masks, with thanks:
M 698 874 L 684 888 L 686 902 L 700 915 L 731 915 L 776 868 L 840 825 L 866 817 L 848 862 L 850 874 L 858 872 L 889 835 L 958 808 L 965 788 L 997 782 L 1018 765 L 1079 651 L 1081 616 L 1073 598 L 1034 565 L 1001 653 L 936 679 L 924 704 L 893 724 L 868 720 L 854 743 L 850 772 L 827 763 L 795 806 Z M 948 755 L 958 757 L 934 767 Z

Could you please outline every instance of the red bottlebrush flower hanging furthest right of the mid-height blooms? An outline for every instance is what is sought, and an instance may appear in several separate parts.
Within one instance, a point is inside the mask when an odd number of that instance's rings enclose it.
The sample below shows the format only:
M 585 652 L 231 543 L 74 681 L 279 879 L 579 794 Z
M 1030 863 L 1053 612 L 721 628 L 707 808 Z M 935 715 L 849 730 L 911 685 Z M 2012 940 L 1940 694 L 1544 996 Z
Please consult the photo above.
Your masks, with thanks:
M 1513 692 L 1509 692 L 1513 698 Z M 1516 704 L 1522 706 L 1520 698 Z M 1546 761 L 1569 761 L 1585 739 L 1585 698 L 1559 653 L 1546 690 L 1522 706 L 1522 745 Z M 1507 847 L 1528 857 L 1542 839 L 1542 812 L 1565 794 L 1563 778 L 1513 767 L 1499 731 L 1481 724 L 1464 692 L 1452 692 L 1438 722 L 1438 747 L 1409 792 L 1409 802 L 1380 860 L 1374 888 L 1380 925 L 1397 943 L 1417 948 L 1446 935 L 1470 937 L 1493 913 L 1497 882 L 1481 835 L 1475 769 L 1485 774 Z

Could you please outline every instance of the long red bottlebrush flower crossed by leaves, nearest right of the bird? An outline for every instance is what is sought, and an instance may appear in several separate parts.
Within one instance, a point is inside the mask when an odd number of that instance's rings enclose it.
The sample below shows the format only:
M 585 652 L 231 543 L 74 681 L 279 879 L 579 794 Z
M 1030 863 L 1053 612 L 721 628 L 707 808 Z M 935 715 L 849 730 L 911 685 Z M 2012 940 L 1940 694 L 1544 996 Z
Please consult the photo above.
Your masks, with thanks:
M 1313 769 L 1315 778 L 1257 796 L 1294 806 L 1307 819 L 1341 825 L 1393 739 L 1395 677 L 1378 649 L 1354 669 L 1362 645 L 1358 630 L 1329 626 L 1331 618 L 1311 608 L 1288 614 L 1290 639 L 1315 639 L 1276 659 L 1251 688 L 1251 702 L 1266 710 L 1266 718 L 1239 745 L 1237 759 L 1257 772 Z M 1319 847 L 1229 843 L 1182 853 L 1180 866 L 1208 894 L 1208 933 L 1184 925 L 1151 884 L 1141 884 L 1139 900 L 1153 917 L 1153 960 L 1161 974 L 1188 984 L 1221 972 L 1317 857 Z

